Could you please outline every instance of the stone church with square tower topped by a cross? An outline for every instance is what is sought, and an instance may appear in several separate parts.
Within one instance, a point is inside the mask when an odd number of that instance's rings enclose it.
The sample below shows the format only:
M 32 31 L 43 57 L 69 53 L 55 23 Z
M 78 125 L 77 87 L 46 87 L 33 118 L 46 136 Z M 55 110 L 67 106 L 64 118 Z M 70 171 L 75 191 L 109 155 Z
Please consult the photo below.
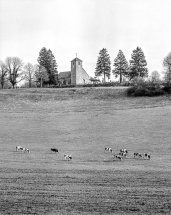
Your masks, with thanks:
M 58 79 L 60 83 L 64 85 L 91 83 L 89 75 L 82 67 L 82 60 L 77 58 L 77 56 L 71 61 L 71 71 L 60 72 L 58 74 Z

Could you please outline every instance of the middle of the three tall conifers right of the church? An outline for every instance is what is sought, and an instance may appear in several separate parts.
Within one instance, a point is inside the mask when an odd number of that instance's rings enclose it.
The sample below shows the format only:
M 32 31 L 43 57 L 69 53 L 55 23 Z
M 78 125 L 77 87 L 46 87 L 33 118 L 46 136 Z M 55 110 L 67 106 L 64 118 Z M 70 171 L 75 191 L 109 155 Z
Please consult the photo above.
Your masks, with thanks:
M 119 50 L 117 57 L 114 60 L 114 70 L 112 71 L 115 77 L 119 76 L 120 83 L 122 82 L 122 77 L 126 77 L 128 74 L 128 62 L 121 50 Z

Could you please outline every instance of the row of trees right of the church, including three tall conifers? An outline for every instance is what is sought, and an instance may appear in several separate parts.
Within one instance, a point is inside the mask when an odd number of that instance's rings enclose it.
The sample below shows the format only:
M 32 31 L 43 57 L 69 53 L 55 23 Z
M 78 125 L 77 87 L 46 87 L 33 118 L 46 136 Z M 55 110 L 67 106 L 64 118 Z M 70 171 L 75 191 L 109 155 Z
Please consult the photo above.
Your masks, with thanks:
M 115 78 L 119 77 L 120 83 L 123 81 L 123 78 L 132 80 L 136 78 L 147 78 L 148 77 L 148 68 L 145 55 L 140 47 L 137 47 L 133 50 L 131 54 L 131 60 L 128 61 L 125 58 L 122 50 L 119 50 L 117 57 L 114 59 L 113 63 L 114 69 L 112 70 Z M 164 67 L 164 80 L 171 82 L 171 52 L 163 60 Z M 99 52 L 97 59 L 97 64 L 95 68 L 95 77 L 103 75 L 103 81 L 106 81 L 106 77 L 110 79 L 111 76 L 111 61 L 110 56 L 106 48 L 103 48 Z M 157 71 L 151 73 L 151 80 L 159 80 L 160 74 Z

